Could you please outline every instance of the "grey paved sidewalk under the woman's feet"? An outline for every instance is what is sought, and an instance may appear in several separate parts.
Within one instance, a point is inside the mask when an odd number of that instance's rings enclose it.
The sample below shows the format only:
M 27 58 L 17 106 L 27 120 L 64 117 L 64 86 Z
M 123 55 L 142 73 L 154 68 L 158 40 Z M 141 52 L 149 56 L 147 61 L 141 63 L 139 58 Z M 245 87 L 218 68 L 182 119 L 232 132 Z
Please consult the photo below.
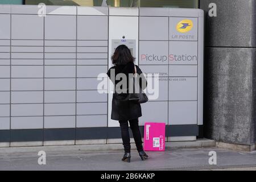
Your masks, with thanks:
M 147 152 L 142 161 L 137 151 L 131 152 L 131 163 L 122 162 L 123 151 L 46 150 L 46 165 L 38 164 L 38 151 L 16 151 L 0 148 L 0 170 L 255 170 L 256 151 L 239 152 L 221 148 L 171 148 L 165 152 Z M 59 148 L 59 150 L 58 150 Z M 47 149 L 47 147 L 46 147 Z M 9 151 L 8 151 L 9 150 Z M 208 163 L 209 151 L 217 152 L 217 165 Z

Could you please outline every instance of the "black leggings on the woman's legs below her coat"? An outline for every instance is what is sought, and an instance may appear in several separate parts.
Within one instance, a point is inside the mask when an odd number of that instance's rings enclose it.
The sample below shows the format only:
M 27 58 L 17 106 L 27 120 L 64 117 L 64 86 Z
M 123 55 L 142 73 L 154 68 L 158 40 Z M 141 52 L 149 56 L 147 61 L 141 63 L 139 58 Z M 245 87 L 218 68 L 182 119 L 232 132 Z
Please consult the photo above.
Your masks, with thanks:
M 139 121 L 137 119 L 130 119 L 130 128 L 133 131 L 133 138 L 135 140 L 135 144 L 137 147 L 138 152 L 143 151 L 142 147 L 142 139 L 141 139 L 141 131 L 139 131 Z M 125 152 L 131 151 L 131 144 L 130 144 L 130 135 L 129 135 L 129 125 L 127 120 L 119 121 L 121 127 L 121 134 L 123 140 L 123 147 L 125 148 Z

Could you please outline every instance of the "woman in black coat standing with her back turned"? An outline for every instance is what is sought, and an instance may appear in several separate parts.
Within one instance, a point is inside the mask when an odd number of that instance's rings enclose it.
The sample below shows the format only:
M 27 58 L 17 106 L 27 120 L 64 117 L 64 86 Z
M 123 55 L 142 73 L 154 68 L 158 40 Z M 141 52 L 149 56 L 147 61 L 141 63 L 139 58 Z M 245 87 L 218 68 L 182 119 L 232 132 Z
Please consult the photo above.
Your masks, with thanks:
M 115 77 L 119 73 L 125 74 L 127 78 L 127 88 L 121 88 L 122 90 L 126 90 L 127 92 L 117 93 L 117 90 L 114 90 L 115 92 L 113 93 L 111 113 L 111 119 L 119 121 L 119 125 L 121 127 L 123 147 L 125 150 L 125 154 L 123 155 L 122 160 L 126 162 L 130 162 L 131 159 L 131 145 L 128 121 L 130 123 L 131 131 L 133 131 L 133 138 L 135 140 L 139 156 L 141 156 L 142 160 L 148 158 L 148 155 L 143 150 L 141 132 L 139 131 L 138 118 L 142 116 L 141 105 L 127 99 L 130 86 L 129 73 L 135 73 L 135 67 L 137 69 L 137 74 L 139 75 L 139 85 L 141 86 L 142 90 L 145 89 L 147 85 L 146 78 L 142 74 L 141 69 L 139 69 L 137 65 L 134 65 L 134 60 L 135 59 L 131 55 L 130 49 L 125 45 L 120 45 L 115 49 L 115 52 L 112 56 L 112 63 L 114 64 L 114 66 L 110 68 L 107 73 L 115 86 L 118 84 L 118 82 L 122 81 L 115 79 Z M 143 84 L 145 82 L 146 84 Z M 142 86 L 144 86 L 144 88 Z

